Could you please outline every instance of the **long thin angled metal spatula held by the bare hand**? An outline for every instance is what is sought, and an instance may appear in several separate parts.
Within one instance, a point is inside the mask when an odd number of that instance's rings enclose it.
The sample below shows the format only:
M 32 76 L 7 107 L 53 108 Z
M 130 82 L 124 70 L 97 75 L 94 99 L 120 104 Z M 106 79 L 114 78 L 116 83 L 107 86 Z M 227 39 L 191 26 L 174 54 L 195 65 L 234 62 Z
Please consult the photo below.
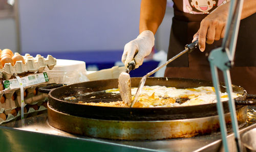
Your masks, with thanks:
M 194 50 L 194 48 L 196 48 L 198 46 L 198 40 L 196 40 L 195 42 L 193 43 L 190 43 L 190 44 L 187 44 L 185 46 L 185 49 L 180 52 L 178 55 L 174 56 L 173 58 L 169 59 L 168 61 L 166 61 L 164 64 L 162 64 L 161 66 L 155 68 L 154 70 L 152 70 L 151 72 L 148 72 L 146 75 L 144 75 L 142 78 L 141 78 L 141 81 L 139 83 L 139 86 L 138 86 L 138 89 L 137 89 L 137 92 L 135 94 L 135 97 L 134 97 L 134 100 L 132 101 L 131 103 L 131 107 L 134 106 L 134 104 L 137 102 L 138 100 L 138 97 L 140 96 L 141 94 L 141 91 L 142 91 L 142 88 L 146 82 L 146 78 L 149 77 L 150 75 L 154 74 L 156 71 L 158 71 L 159 69 L 161 69 L 162 67 L 164 67 L 165 65 L 167 65 L 168 63 L 174 61 L 175 59 L 177 59 L 178 57 L 180 57 L 181 55 L 185 54 L 185 53 L 190 53 Z

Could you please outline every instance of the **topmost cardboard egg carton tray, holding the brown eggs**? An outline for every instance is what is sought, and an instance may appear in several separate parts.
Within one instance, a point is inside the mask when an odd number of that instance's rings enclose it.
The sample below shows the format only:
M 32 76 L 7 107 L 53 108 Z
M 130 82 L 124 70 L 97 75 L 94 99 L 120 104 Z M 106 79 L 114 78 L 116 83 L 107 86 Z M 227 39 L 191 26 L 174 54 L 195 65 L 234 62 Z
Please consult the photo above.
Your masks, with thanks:
M 47 58 L 44 58 L 41 55 L 36 55 L 34 58 L 29 54 L 25 54 L 23 58 L 25 64 L 22 61 L 16 61 L 14 66 L 12 66 L 11 63 L 6 63 L 5 66 L 0 69 L 0 78 L 4 77 L 8 80 L 15 74 L 24 72 L 42 72 L 46 67 L 51 70 L 56 65 L 56 59 L 51 55 L 48 55 Z

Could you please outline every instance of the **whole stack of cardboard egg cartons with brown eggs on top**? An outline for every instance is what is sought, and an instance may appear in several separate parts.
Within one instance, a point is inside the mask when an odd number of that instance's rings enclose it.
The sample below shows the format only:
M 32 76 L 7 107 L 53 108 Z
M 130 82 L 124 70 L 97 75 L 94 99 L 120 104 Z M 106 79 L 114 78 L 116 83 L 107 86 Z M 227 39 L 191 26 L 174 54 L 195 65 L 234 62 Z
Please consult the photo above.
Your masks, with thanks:
M 13 54 L 10 49 L 4 49 L 3 51 L 0 49 L 0 55 L 0 120 L 6 118 L 12 119 L 17 115 L 18 110 L 20 110 L 20 89 L 4 90 L 2 81 L 15 79 L 15 75 L 18 75 L 19 77 L 26 77 L 31 74 L 41 73 L 46 66 L 49 69 L 52 69 L 56 65 L 56 59 L 51 55 L 48 55 L 47 58 L 40 55 L 37 55 L 34 58 L 29 54 L 21 56 L 18 53 Z M 37 101 L 43 98 L 45 99 L 46 94 L 34 94 L 34 91 L 40 86 L 47 85 L 47 83 L 48 82 L 44 82 L 24 87 L 25 105 L 30 110 L 31 106 L 36 110 L 37 105 L 35 104 L 39 103 Z M 24 110 L 27 109 L 26 107 Z

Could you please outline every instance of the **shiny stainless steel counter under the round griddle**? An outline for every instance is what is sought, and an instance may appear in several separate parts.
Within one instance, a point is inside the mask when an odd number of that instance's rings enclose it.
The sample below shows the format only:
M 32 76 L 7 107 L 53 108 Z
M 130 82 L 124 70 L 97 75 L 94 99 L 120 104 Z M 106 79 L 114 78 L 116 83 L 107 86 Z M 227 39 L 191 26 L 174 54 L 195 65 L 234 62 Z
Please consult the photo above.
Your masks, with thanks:
M 256 124 L 242 130 L 243 133 Z M 89 138 L 62 132 L 50 126 L 47 113 L 0 126 L 3 151 L 219 151 L 220 133 L 194 138 L 125 141 Z M 230 149 L 236 151 L 233 134 L 228 136 Z M 2 151 L 1 150 L 1 151 Z

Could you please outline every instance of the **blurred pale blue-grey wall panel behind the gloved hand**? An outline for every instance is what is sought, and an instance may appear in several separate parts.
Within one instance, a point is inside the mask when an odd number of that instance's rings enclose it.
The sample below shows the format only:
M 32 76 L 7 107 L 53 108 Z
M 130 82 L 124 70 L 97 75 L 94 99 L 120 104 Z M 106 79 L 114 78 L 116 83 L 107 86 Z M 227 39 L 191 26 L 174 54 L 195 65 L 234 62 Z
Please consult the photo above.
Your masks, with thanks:
M 140 1 L 19 1 L 23 53 L 122 50 L 139 33 Z

